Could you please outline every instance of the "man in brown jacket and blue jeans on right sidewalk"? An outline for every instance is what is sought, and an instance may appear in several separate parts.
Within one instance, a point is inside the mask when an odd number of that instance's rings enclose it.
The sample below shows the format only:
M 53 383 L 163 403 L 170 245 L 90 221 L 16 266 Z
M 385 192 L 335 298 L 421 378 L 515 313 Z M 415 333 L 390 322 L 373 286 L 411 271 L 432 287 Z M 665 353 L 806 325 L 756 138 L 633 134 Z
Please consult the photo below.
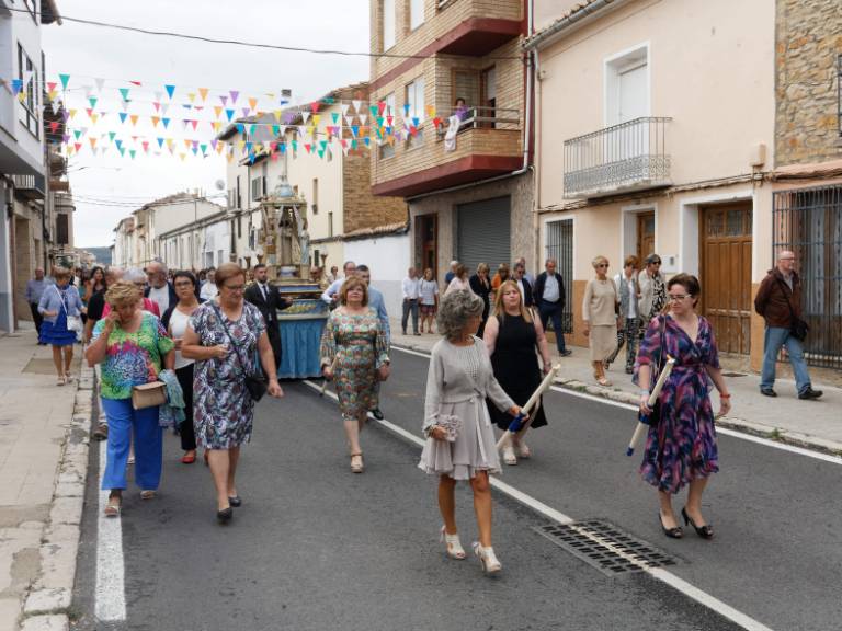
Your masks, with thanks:
M 813 390 L 810 383 L 801 342 L 790 332 L 794 318 L 801 317 L 801 282 L 795 272 L 793 252 L 784 251 L 778 255 L 777 266 L 770 269 L 760 284 L 754 297 L 754 310 L 766 321 L 760 392 L 766 397 L 777 397 L 772 389 L 775 385 L 775 363 L 781 346 L 786 346 L 798 388 L 798 399 L 821 397 L 822 391 Z

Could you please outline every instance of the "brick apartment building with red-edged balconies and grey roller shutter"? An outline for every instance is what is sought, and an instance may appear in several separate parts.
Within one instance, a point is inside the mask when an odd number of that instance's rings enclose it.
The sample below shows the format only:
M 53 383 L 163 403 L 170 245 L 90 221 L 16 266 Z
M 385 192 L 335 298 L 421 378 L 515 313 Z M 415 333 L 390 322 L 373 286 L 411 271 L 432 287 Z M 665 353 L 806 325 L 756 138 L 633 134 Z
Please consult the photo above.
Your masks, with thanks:
M 378 113 L 372 190 L 406 198 L 411 261 L 440 282 L 452 259 L 471 272 L 520 255 L 536 265 L 531 88 L 521 50 L 527 7 L 371 3 L 371 101 Z

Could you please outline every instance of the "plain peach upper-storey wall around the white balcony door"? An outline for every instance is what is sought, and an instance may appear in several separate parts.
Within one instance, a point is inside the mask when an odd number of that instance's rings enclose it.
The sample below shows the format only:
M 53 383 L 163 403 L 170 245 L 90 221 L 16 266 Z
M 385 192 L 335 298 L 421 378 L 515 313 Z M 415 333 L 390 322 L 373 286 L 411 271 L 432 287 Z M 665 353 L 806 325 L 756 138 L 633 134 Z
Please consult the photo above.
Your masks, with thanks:
M 565 203 L 564 142 L 610 125 L 606 60 L 648 44 L 650 115 L 667 127 L 675 184 L 752 173 L 774 149 L 775 8 L 769 0 L 629 2 L 539 53 L 538 206 Z M 692 45 L 689 45 L 692 43 Z M 565 104 L 559 114 L 559 104 Z

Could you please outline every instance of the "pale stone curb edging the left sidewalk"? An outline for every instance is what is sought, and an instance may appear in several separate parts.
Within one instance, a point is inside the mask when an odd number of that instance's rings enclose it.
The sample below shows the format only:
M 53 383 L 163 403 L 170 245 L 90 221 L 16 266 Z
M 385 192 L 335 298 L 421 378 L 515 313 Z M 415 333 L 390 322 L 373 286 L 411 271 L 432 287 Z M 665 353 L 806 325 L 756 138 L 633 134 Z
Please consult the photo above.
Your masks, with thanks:
M 82 362 L 73 413 L 54 481 L 49 520 L 41 537 L 41 574 L 24 599 L 20 631 L 67 631 L 73 596 L 88 478 L 94 372 Z

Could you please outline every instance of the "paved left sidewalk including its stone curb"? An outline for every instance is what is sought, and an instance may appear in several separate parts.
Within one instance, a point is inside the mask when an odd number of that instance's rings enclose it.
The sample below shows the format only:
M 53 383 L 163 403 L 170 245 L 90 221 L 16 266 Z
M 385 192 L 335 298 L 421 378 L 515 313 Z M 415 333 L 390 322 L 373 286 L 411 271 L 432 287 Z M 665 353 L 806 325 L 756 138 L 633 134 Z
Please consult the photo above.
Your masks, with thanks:
M 77 345 L 77 377 L 80 367 Z M 0 631 L 67 629 L 91 388 L 89 369 L 56 386 L 35 331 L 0 336 Z

